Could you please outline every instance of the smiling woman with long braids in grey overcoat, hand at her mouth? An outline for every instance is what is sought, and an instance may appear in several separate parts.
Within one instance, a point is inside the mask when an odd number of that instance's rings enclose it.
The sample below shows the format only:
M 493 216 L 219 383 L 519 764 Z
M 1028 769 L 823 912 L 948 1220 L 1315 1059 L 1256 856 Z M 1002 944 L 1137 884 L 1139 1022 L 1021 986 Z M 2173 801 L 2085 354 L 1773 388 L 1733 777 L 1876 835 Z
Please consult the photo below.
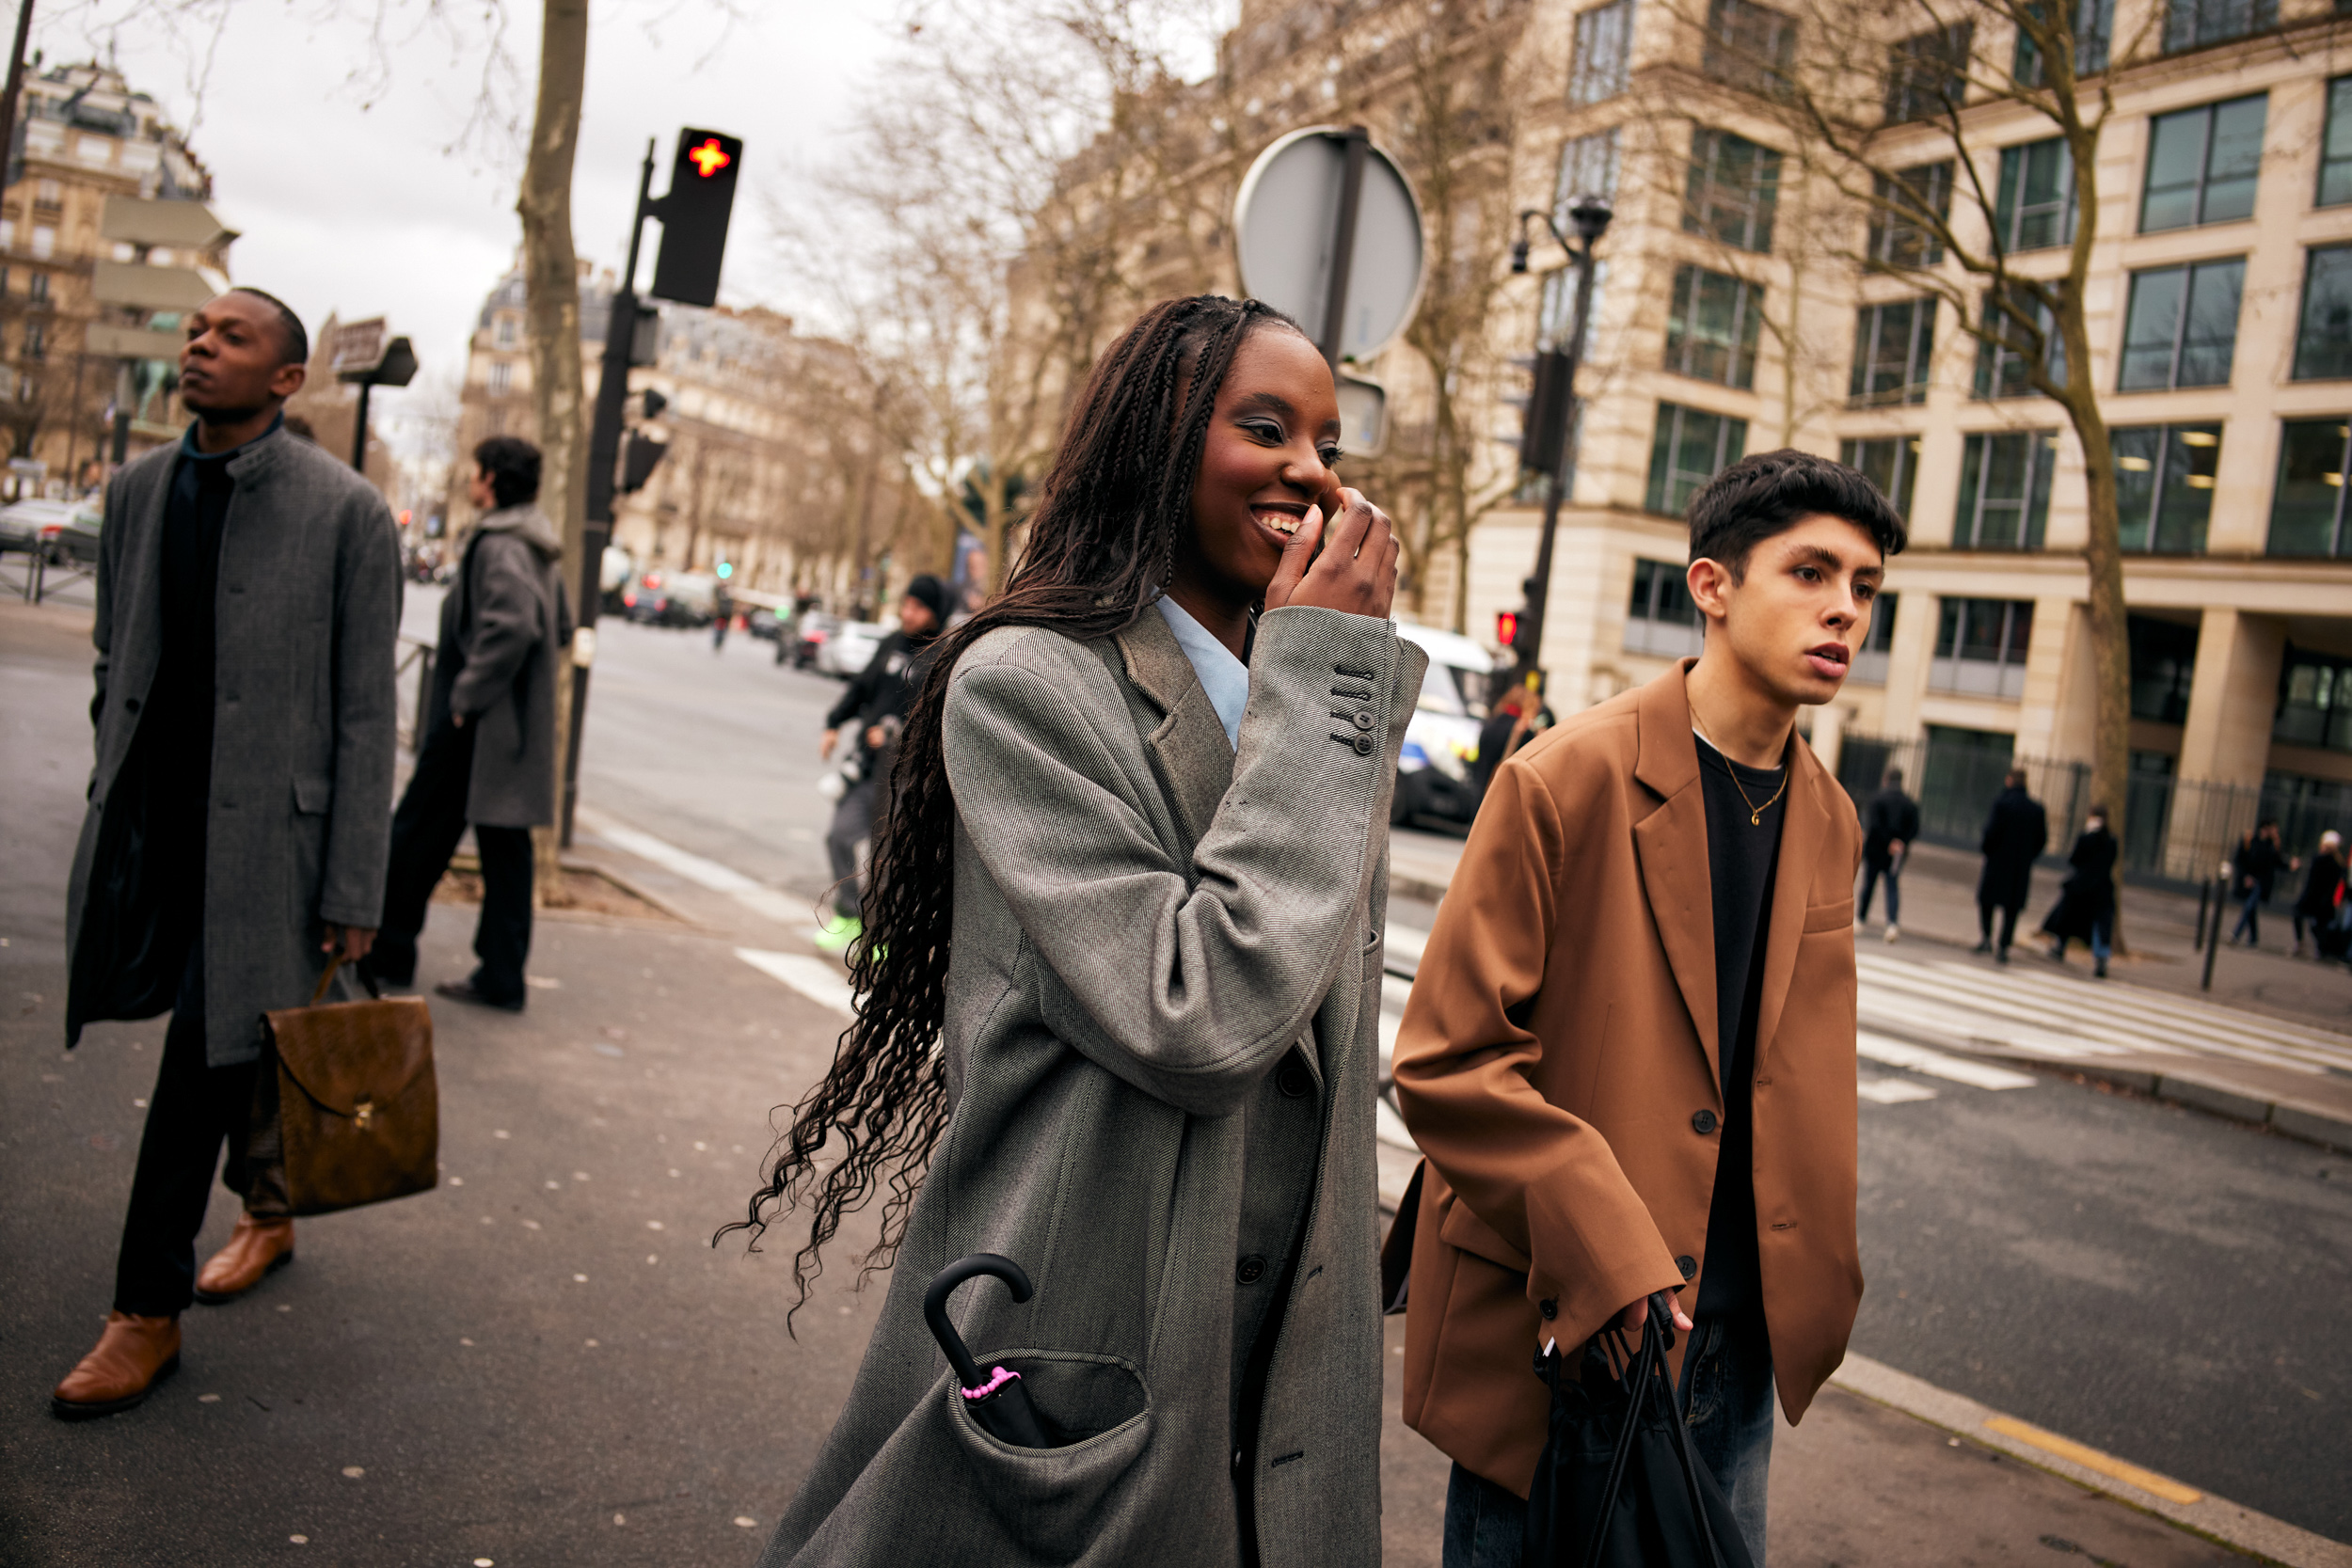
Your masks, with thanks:
M 1289 317 L 1152 306 L 1004 595 L 941 639 L 856 1023 L 748 1215 L 811 1211 L 800 1302 L 884 1190 L 866 1262 L 896 1262 L 764 1563 L 1378 1561 L 1385 823 L 1423 656 L 1336 461 Z M 969 1253 L 1035 1281 L 955 1309 L 1047 1448 L 993 1436 L 924 1326 Z

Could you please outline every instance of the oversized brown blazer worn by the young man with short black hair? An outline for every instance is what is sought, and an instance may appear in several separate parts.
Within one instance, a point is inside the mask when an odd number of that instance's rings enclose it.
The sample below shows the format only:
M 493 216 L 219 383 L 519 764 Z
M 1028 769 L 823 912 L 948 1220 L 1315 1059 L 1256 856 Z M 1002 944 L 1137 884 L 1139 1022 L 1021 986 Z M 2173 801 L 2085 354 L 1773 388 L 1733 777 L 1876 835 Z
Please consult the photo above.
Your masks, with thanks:
M 1536 1347 L 1581 1345 L 1625 1302 L 1684 1286 L 1679 1262 L 1705 1265 L 1724 1098 L 1686 670 L 1566 719 L 1496 771 L 1397 1034 L 1397 1098 L 1428 1154 L 1404 1422 L 1522 1495 L 1545 1429 Z M 1780 1408 L 1797 1420 L 1844 1359 L 1863 1298 L 1863 835 L 1802 738 L 1788 762 L 1752 1114 L 1764 1316 Z

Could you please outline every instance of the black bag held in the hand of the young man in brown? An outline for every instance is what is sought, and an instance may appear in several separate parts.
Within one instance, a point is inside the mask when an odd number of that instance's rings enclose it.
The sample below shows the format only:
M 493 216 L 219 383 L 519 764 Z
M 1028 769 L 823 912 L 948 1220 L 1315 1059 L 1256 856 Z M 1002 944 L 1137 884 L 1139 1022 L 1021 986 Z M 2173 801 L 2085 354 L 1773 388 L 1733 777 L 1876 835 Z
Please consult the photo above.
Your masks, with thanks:
M 1592 1335 L 1581 1380 L 1557 1347 L 1536 1359 L 1552 1415 L 1526 1497 L 1524 1568 L 1755 1568 L 1675 1408 L 1670 1312 L 1670 1298 L 1649 1298 L 1632 1354 L 1613 1328 Z

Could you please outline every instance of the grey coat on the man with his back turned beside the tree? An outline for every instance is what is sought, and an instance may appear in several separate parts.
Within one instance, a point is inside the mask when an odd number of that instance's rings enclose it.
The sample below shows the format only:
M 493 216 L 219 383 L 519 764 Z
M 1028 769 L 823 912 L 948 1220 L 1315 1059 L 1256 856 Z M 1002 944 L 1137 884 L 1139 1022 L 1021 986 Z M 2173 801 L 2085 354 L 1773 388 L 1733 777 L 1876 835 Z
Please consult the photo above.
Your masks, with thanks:
M 442 599 L 428 724 L 473 726 L 466 820 L 543 827 L 555 820 L 555 682 L 572 642 L 562 541 L 536 505 L 473 524 Z

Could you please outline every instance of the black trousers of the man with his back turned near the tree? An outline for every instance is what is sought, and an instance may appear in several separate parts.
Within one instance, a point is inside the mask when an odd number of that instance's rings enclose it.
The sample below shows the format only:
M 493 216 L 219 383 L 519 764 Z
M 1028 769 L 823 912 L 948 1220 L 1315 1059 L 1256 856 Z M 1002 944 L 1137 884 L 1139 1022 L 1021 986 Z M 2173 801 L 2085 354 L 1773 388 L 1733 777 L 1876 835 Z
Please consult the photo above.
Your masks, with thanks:
M 473 731 L 440 724 L 416 750 L 416 771 L 393 811 L 393 858 L 383 882 L 383 929 L 367 966 L 395 985 L 416 978 L 416 933 L 426 929 L 433 884 L 466 837 L 466 788 L 473 780 Z M 473 987 L 492 1001 L 522 1001 L 522 961 L 532 957 L 532 830 L 473 825 L 482 851 L 482 917 L 473 952 L 482 964 Z

